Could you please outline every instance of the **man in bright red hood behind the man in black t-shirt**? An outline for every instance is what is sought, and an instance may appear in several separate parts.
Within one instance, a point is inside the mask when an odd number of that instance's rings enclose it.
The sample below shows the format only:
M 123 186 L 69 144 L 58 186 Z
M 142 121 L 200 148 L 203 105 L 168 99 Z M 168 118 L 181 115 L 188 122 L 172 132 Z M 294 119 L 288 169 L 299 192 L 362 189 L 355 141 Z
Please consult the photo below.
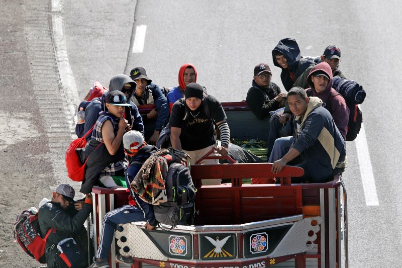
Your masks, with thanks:
M 184 88 L 189 83 L 195 83 L 197 81 L 197 70 L 194 65 L 190 63 L 184 63 L 179 70 L 179 85 L 173 87 L 167 94 L 167 104 L 169 106 L 169 112 L 172 112 L 172 107 L 175 101 L 184 97 Z

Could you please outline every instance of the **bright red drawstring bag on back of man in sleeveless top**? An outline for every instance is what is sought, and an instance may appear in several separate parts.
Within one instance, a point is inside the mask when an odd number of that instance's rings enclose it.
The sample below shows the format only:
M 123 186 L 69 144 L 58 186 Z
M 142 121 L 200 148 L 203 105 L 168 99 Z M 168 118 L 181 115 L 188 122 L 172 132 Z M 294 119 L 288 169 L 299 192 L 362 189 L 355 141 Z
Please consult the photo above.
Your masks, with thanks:
M 86 158 L 85 162 L 82 163 L 81 159 L 78 156 L 76 148 L 84 148 L 86 145 L 86 136 L 92 132 L 93 125 L 88 132 L 82 136 L 81 138 L 77 138 L 73 140 L 67 148 L 66 152 L 66 167 L 67 167 L 67 174 L 68 177 L 71 178 L 74 182 L 82 182 L 85 178 L 85 165 L 86 161 L 88 161 L 89 157 Z M 100 144 L 102 144 L 101 142 Z M 100 144 L 97 146 L 99 147 Z M 96 148 L 97 148 L 96 147 Z

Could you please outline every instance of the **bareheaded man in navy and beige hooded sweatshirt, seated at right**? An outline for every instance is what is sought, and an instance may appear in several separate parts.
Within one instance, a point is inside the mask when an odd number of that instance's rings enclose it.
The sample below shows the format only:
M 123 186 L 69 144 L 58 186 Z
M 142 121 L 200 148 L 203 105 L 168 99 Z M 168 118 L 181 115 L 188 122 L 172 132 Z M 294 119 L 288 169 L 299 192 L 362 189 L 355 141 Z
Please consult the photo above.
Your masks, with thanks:
M 291 160 L 303 154 L 295 166 L 305 171 L 302 177 L 292 177 L 292 183 L 324 183 L 331 180 L 336 168 L 346 166 L 346 144 L 334 119 L 322 101 L 307 97 L 301 87 L 293 87 L 287 94 L 289 108 L 294 114 L 294 141 L 289 151 L 271 167 L 278 173 Z

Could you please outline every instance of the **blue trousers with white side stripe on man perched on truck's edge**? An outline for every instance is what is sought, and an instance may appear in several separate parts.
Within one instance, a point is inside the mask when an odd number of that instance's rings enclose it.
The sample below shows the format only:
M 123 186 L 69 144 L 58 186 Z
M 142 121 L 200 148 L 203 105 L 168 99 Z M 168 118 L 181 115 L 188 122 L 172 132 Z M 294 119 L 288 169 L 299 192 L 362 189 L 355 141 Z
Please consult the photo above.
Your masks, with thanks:
M 133 221 L 147 221 L 144 218 L 143 212 L 136 206 L 124 205 L 121 208 L 106 213 L 102 221 L 102 235 L 100 236 L 99 246 L 96 251 L 96 258 L 108 258 L 116 226 Z

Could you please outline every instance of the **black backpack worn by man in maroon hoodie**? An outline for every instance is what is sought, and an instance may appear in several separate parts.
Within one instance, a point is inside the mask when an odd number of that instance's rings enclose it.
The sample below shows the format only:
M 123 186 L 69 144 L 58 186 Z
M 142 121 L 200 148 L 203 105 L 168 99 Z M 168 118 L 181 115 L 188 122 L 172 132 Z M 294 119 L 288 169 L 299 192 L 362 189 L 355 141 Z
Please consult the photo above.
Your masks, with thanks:
M 312 90 L 307 91 L 307 96 L 311 96 Z M 331 108 L 331 102 L 332 100 L 338 96 L 341 95 L 338 92 L 331 92 L 330 97 L 328 98 L 327 103 L 325 104 L 325 108 L 332 114 L 332 108 Z M 343 97 L 343 96 L 342 96 Z M 359 106 L 357 104 L 350 104 L 346 100 L 346 106 L 349 108 L 349 120 L 348 120 L 348 127 L 346 128 L 346 140 L 347 141 L 352 141 L 355 140 L 357 137 L 357 134 L 360 132 L 361 124 L 363 123 L 363 113 L 359 109 Z

